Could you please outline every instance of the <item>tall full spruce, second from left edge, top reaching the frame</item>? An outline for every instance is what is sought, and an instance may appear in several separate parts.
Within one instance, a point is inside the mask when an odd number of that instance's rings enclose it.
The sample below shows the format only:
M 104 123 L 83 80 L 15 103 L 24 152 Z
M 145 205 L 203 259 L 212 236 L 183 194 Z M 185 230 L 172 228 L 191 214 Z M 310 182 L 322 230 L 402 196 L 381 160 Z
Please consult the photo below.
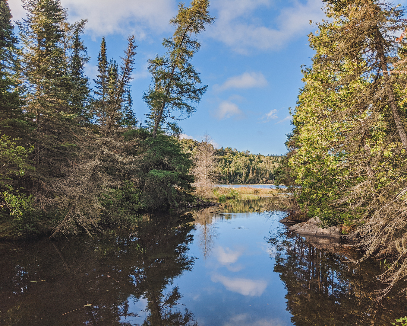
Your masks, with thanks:
M 66 11 L 59 0 L 24 0 L 23 8 L 27 18 L 18 26 L 27 89 L 24 110 L 35 123 L 33 190 L 38 198 L 44 194 L 42 186 L 62 173 L 59 165 L 66 164 L 75 149 L 72 128 L 78 114 L 69 105 L 72 83 L 61 41 Z

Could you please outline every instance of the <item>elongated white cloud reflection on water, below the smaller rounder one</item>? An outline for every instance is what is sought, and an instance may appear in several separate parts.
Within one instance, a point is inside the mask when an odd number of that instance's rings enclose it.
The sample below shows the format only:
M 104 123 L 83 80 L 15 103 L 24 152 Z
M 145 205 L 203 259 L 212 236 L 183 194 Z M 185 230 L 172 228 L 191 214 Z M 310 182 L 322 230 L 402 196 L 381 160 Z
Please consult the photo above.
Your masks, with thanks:
M 249 280 L 247 278 L 227 278 L 223 275 L 212 275 L 212 282 L 221 282 L 229 291 L 242 295 L 260 296 L 267 287 L 265 280 Z

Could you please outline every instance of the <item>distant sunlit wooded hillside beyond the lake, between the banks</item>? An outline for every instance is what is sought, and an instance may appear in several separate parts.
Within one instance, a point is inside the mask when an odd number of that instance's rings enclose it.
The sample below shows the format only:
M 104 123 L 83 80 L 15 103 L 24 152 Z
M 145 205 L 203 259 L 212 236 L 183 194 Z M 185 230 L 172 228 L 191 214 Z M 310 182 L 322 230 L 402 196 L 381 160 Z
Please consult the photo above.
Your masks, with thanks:
M 181 142 L 195 157 L 203 143 L 210 146 L 214 156 L 213 170 L 216 172 L 214 181 L 217 183 L 274 183 L 274 174 L 282 159 L 280 155 L 252 154 L 248 150 L 239 152 L 230 147 L 215 149 L 205 141 L 182 139 Z

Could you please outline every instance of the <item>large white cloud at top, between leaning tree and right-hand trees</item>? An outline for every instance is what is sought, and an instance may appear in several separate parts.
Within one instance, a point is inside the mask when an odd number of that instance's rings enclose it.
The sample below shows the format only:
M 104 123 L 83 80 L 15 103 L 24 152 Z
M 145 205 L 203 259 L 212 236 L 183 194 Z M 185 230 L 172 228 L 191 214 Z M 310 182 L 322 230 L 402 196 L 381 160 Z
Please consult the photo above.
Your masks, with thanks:
M 320 0 L 308 0 L 302 4 L 290 1 L 272 23 L 276 28 L 260 24 L 253 11 L 271 5 L 271 0 L 216 0 L 212 6 L 218 9 L 215 26 L 208 29 L 210 36 L 224 42 L 236 52 L 247 54 L 254 50 L 278 50 L 291 39 L 307 35 L 315 29 L 309 20 L 319 21 L 324 17 Z

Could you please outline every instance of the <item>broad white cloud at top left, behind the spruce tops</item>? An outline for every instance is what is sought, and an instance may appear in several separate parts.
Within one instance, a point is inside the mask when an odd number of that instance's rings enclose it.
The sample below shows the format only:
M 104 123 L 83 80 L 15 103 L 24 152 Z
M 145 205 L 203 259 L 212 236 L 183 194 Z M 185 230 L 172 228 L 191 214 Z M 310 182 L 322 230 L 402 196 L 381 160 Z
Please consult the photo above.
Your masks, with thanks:
M 171 0 L 61 0 L 68 9 L 69 20 L 88 18 L 85 33 L 95 36 L 120 33 L 135 34 L 138 40 L 147 33 L 170 30 L 168 21 L 177 13 L 177 2 Z M 9 0 L 13 20 L 24 16 L 21 0 Z

